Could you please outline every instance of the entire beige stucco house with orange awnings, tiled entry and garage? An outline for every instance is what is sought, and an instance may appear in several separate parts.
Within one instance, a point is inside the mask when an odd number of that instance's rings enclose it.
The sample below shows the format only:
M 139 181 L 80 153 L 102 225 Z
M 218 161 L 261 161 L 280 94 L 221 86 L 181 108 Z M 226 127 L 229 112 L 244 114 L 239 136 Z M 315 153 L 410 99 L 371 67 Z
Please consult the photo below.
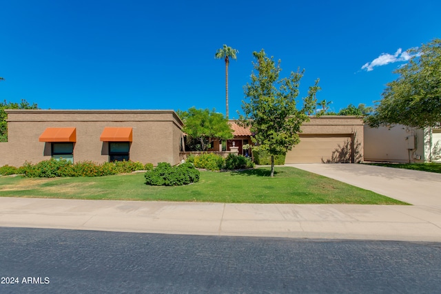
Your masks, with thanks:
M 176 165 L 187 155 L 183 122 L 173 110 L 8 109 L 8 142 L 0 143 L 0 166 L 19 167 L 50 158 L 72 162 L 133 160 Z M 249 128 L 229 120 L 234 138 L 214 141 L 209 151 L 251 155 Z M 286 163 L 363 160 L 363 122 L 356 116 L 311 117 Z M 236 151 L 237 149 L 237 151 Z

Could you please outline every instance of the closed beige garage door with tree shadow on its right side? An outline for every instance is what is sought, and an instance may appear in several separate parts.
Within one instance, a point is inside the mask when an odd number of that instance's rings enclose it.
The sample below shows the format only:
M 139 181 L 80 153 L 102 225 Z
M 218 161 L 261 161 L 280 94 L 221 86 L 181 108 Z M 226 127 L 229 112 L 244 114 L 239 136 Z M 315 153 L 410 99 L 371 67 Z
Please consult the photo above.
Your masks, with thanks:
M 351 135 L 300 135 L 285 163 L 351 162 Z

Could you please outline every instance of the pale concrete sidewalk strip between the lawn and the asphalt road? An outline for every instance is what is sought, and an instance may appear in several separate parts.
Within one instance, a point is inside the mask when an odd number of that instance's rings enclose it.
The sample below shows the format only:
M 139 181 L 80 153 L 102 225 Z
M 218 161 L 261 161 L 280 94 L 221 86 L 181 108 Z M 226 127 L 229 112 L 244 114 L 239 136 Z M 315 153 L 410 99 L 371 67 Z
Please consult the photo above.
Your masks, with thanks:
M 441 242 L 441 209 L 0 198 L 0 227 Z

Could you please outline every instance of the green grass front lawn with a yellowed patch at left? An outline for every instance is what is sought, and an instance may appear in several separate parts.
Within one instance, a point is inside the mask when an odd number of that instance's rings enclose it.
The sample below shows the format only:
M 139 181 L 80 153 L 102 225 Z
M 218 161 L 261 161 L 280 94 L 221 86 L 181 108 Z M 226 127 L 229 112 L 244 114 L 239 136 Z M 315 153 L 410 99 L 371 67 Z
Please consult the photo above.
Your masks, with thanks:
M 406 204 L 293 167 L 201 171 L 201 180 L 180 187 L 145 185 L 144 174 L 96 178 L 0 177 L 0 196 L 224 203 Z

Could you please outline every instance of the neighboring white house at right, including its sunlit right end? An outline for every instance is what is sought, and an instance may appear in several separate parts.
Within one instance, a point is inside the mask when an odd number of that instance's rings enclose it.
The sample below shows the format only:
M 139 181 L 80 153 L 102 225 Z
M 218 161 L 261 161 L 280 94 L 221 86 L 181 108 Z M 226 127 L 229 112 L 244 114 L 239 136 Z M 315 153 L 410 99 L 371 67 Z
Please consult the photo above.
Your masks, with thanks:
M 441 129 L 365 125 L 365 160 L 441 162 Z

